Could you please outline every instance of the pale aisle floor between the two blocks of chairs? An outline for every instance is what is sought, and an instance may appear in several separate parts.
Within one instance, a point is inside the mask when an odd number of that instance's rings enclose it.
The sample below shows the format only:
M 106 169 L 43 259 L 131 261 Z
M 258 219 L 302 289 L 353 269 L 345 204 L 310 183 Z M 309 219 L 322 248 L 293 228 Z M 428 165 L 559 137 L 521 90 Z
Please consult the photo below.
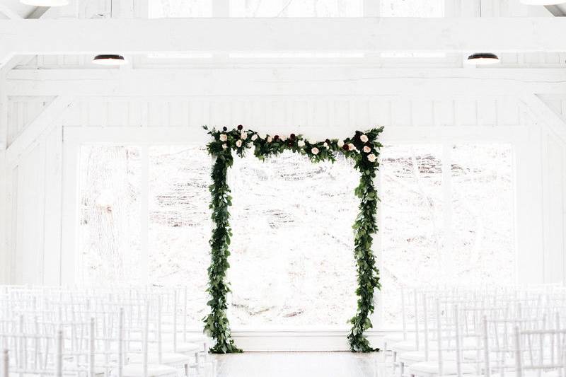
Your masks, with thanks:
M 215 355 L 217 377 L 383 377 L 381 353 L 245 352 Z

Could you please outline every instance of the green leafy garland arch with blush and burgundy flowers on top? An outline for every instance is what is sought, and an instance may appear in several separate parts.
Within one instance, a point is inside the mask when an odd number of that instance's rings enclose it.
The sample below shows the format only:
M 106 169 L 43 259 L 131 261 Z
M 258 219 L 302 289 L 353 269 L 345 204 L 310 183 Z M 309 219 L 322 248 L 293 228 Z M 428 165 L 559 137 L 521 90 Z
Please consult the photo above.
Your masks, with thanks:
M 350 320 L 352 330 L 348 335 L 352 352 L 379 351 L 369 344 L 364 331 L 371 328 L 369 315 L 374 313 L 374 291 L 381 289 L 379 270 L 371 251 L 373 235 L 378 231 L 376 224 L 377 196 L 374 178 L 379 168 L 379 151 L 381 144 L 377 140 L 383 127 L 370 129 L 366 132 L 357 131 L 354 137 L 344 140 L 326 139 L 313 141 L 301 134 L 291 134 L 287 138 L 279 135 L 261 135 L 243 126 L 228 130 L 226 127 L 216 130 L 204 129 L 213 137 L 207 145 L 207 150 L 215 158 L 212 168 L 212 220 L 214 230 L 210 239 L 211 264 L 208 268 L 209 284 L 207 292 L 210 296 L 208 306 L 210 314 L 204 318 L 204 331 L 215 341 L 212 353 L 242 352 L 231 338 L 230 323 L 226 316 L 226 295 L 230 292 L 226 282 L 226 270 L 230 267 L 230 228 L 229 207 L 232 204 L 230 187 L 226 183 L 228 168 L 232 166 L 235 151 L 237 156 L 243 156 L 246 149 L 254 146 L 254 155 L 260 160 L 276 156 L 282 151 L 294 151 L 307 156 L 312 162 L 335 161 L 336 153 L 342 153 L 354 160 L 354 168 L 359 170 L 361 177 L 355 194 L 360 199 L 359 214 L 354 222 L 354 257 L 357 263 L 356 294 L 357 312 Z

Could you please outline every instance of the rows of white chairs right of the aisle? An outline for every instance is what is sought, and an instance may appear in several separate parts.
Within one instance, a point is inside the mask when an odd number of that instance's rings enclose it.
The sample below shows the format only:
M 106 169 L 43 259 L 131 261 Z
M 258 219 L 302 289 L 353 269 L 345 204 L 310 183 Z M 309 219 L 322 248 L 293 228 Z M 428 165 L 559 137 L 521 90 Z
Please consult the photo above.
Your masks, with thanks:
M 384 338 L 394 376 L 565 373 L 562 287 L 403 290 L 401 305 L 403 330 Z

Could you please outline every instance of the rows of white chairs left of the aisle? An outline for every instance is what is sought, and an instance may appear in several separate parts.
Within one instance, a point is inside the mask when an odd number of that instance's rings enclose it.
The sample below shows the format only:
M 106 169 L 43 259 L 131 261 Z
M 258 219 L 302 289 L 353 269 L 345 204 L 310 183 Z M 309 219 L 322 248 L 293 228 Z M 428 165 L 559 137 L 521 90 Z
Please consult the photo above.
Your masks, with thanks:
M 0 287 L 0 377 L 214 375 L 186 289 Z

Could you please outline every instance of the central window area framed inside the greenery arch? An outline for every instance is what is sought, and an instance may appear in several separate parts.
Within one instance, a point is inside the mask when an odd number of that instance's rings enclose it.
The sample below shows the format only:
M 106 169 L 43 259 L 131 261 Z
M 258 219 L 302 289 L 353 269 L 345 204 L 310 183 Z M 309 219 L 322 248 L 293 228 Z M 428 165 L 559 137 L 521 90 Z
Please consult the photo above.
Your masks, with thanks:
M 345 158 L 314 164 L 287 151 L 265 162 L 252 153 L 234 160 L 234 327 L 347 327 L 357 308 L 358 180 Z

